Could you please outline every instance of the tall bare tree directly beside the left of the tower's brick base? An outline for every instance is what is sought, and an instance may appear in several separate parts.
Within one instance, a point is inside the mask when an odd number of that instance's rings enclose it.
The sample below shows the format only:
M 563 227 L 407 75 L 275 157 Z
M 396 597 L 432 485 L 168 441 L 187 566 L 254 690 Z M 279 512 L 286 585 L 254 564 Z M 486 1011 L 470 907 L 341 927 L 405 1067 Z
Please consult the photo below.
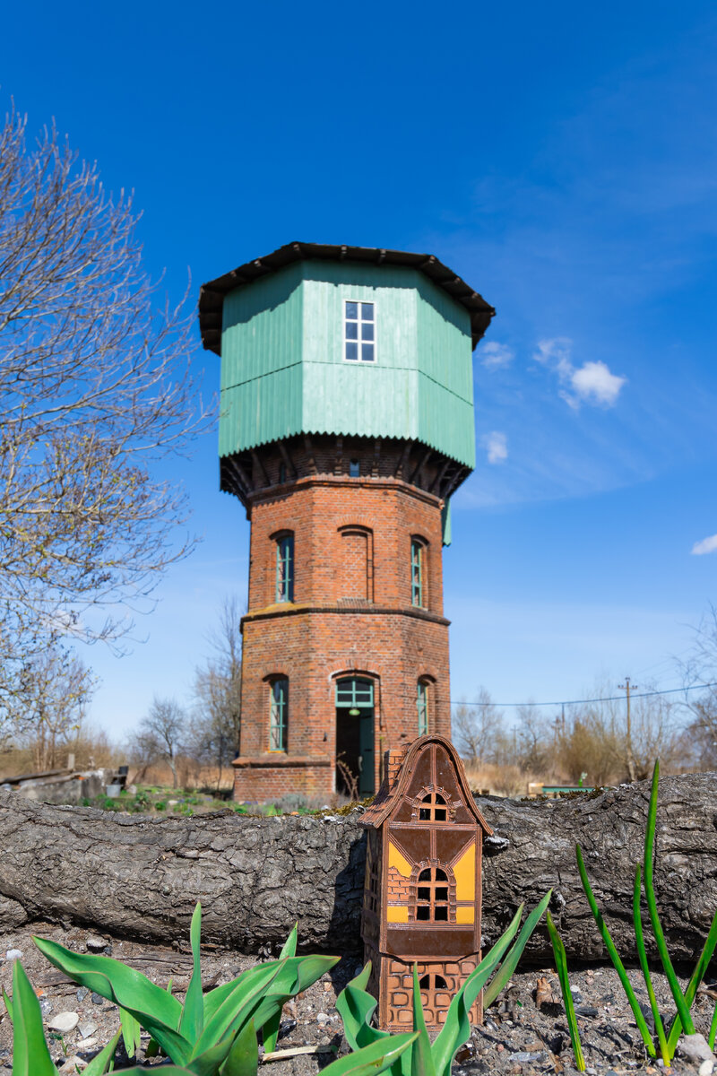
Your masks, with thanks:
M 242 634 L 236 597 L 228 597 L 210 636 L 213 655 L 197 669 L 190 751 L 221 771 L 239 754 L 242 725 Z

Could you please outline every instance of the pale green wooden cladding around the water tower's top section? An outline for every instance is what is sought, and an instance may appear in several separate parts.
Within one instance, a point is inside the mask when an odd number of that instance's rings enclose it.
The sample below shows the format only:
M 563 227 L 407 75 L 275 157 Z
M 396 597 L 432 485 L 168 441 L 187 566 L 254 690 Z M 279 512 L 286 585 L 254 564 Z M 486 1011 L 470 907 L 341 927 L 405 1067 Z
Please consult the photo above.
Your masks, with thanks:
M 375 363 L 343 359 L 345 299 L 375 303 Z M 410 438 L 475 466 L 468 311 L 393 266 L 302 261 L 231 292 L 219 455 L 300 433 Z

